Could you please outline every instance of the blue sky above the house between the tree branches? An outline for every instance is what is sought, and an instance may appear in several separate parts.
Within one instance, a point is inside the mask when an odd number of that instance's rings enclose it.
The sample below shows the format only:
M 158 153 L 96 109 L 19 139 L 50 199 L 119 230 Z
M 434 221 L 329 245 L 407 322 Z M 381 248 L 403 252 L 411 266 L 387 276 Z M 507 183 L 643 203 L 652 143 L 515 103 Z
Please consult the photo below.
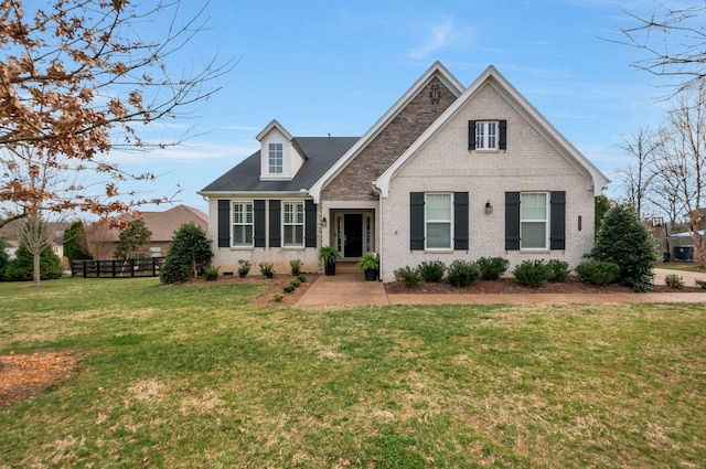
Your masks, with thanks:
M 207 211 L 196 191 L 256 151 L 271 119 L 293 136 L 362 136 L 438 60 L 466 86 L 493 64 L 613 180 L 614 195 L 614 170 L 629 161 L 622 138 L 656 128 L 666 107 L 659 83 L 630 67 L 639 51 L 600 39 L 634 25 L 620 8 L 659 11 L 648 0 L 211 0 L 210 28 L 179 61 L 197 68 L 217 54 L 237 65 L 172 129 L 193 127 L 186 146 L 122 156 L 121 168 L 160 174 L 146 195 L 179 184 L 181 203 Z

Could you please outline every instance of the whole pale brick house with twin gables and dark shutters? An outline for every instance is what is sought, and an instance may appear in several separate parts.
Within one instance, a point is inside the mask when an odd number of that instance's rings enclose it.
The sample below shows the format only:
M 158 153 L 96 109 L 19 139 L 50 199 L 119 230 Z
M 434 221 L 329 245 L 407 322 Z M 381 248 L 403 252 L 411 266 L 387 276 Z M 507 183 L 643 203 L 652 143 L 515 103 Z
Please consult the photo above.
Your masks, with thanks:
M 464 88 L 435 63 L 360 138 L 292 137 L 277 120 L 260 150 L 206 185 L 213 263 L 319 269 L 318 247 L 381 257 L 381 278 L 422 260 L 561 259 L 593 245 L 607 178 L 493 66 Z

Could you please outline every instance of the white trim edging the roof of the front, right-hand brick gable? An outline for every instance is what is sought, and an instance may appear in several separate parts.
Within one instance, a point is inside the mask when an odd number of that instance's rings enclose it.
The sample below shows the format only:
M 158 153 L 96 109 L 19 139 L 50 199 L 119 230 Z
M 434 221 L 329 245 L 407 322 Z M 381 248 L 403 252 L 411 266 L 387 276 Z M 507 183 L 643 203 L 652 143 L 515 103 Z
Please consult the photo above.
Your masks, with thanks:
M 490 84 L 534 129 L 543 136 L 574 168 L 586 178 L 586 189 L 600 195 L 608 178 L 574 147 L 549 121 L 510 83 L 498 70 L 490 65 L 463 92 L 429 128 L 421 134 L 403 154 L 374 182 L 383 196 L 389 192 L 389 182 L 395 173 L 468 103 L 483 85 Z

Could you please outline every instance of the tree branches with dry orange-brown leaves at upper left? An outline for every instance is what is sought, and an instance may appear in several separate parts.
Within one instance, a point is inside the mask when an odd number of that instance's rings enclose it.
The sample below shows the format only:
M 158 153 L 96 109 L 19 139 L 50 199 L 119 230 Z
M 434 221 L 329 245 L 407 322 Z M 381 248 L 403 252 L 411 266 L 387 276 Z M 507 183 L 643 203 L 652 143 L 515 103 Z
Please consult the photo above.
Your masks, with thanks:
M 165 201 L 121 194 L 125 181 L 153 175 L 121 171 L 109 152 L 178 145 L 183 136 L 146 138 L 145 125 L 184 117 L 217 90 L 210 83 L 228 63 L 217 65 L 214 57 L 195 71 L 170 63 L 203 30 L 203 14 L 202 9 L 182 19 L 180 0 L 51 0 L 35 11 L 19 0 L 0 0 L 0 227 L 31 214 L 17 202 L 36 199 L 44 210 L 101 217 Z M 154 31 L 159 24 L 164 29 Z M 101 174 L 101 189 L 72 182 L 45 193 L 30 178 L 17 177 L 24 168 L 35 170 L 23 164 L 19 148 L 41 158 L 40 168 L 71 173 L 66 181 Z

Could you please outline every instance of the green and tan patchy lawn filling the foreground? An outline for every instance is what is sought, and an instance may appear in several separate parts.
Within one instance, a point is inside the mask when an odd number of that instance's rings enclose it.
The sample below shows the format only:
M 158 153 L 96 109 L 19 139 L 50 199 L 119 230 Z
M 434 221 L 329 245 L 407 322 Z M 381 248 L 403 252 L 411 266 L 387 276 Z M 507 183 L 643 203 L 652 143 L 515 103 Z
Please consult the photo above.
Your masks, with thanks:
M 257 286 L 0 284 L 0 468 L 703 467 L 706 306 L 259 308 Z

